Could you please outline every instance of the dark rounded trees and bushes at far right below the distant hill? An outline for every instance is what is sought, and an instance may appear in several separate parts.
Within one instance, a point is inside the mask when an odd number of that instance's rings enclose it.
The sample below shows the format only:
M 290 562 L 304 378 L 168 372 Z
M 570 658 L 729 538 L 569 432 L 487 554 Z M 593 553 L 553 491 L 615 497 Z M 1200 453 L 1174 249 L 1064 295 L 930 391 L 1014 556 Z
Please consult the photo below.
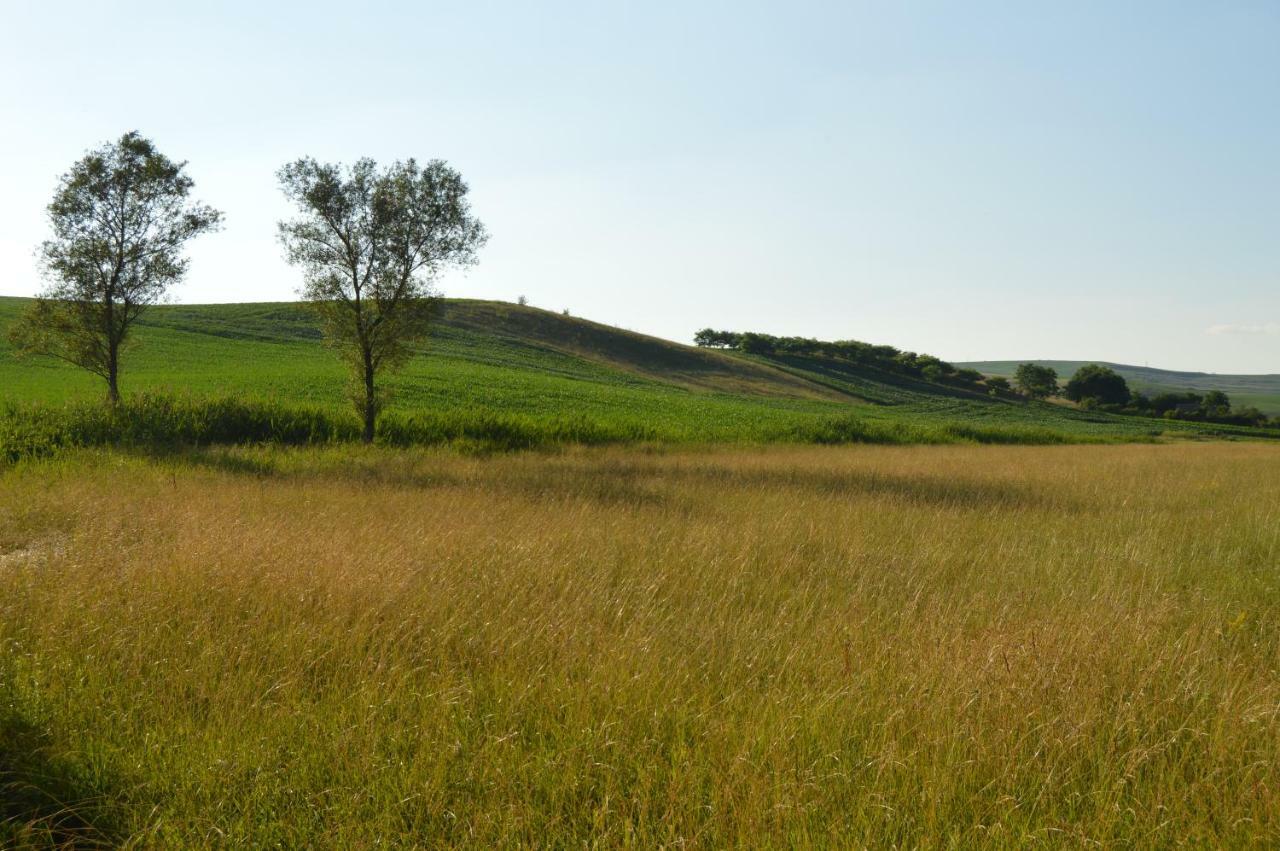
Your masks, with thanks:
M 1023 363 L 1014 374 L 1018 389 L 1030 398 L 1061 395 L 1084 408 L 1114 413 L 1156 416 L 1171 420 L 1196 420 L 1228 425 L 1280 427 L 1280 417 L 1268 420 L 1256 407 L 1233 407 L 1222 390 L 1160 393 L 1147 397 L 1129 389 L 1124 376 L 1108 366 L 1087 363 L 1059 386 L 1057 372 L 1039 363 Z M 989 379 L 988 379 L 989 383 Z

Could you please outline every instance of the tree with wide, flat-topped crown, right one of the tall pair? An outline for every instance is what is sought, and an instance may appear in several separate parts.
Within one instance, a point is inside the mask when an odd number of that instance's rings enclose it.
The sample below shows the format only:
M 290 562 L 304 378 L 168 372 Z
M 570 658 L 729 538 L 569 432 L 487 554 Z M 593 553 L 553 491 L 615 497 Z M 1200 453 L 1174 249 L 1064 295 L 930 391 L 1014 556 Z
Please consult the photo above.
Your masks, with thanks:
M 426 335 L 436 275 L 474 265 L 488 234 L 471 215 L 467 184 L 440 160 L 379 169 L 370 159 L 344 168 L 303 157 L 278 178 L 301 214 L 280 223 L 280 242 L 302 269 L 303 298 L 326 340 L 352 369 L 352 401 L 371 443 L 385 403 L 379 372 L 403 365 Z

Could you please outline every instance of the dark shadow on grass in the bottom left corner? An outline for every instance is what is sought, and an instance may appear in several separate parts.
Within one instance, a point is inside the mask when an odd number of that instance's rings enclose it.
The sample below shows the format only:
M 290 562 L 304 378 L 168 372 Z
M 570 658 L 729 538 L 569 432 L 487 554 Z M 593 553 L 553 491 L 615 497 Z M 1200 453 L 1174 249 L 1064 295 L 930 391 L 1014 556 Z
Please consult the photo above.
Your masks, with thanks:
M 47 732 L 12 709 L 0 713 L 0 847 L 116 847 L 101 784 L 52 755 Z

